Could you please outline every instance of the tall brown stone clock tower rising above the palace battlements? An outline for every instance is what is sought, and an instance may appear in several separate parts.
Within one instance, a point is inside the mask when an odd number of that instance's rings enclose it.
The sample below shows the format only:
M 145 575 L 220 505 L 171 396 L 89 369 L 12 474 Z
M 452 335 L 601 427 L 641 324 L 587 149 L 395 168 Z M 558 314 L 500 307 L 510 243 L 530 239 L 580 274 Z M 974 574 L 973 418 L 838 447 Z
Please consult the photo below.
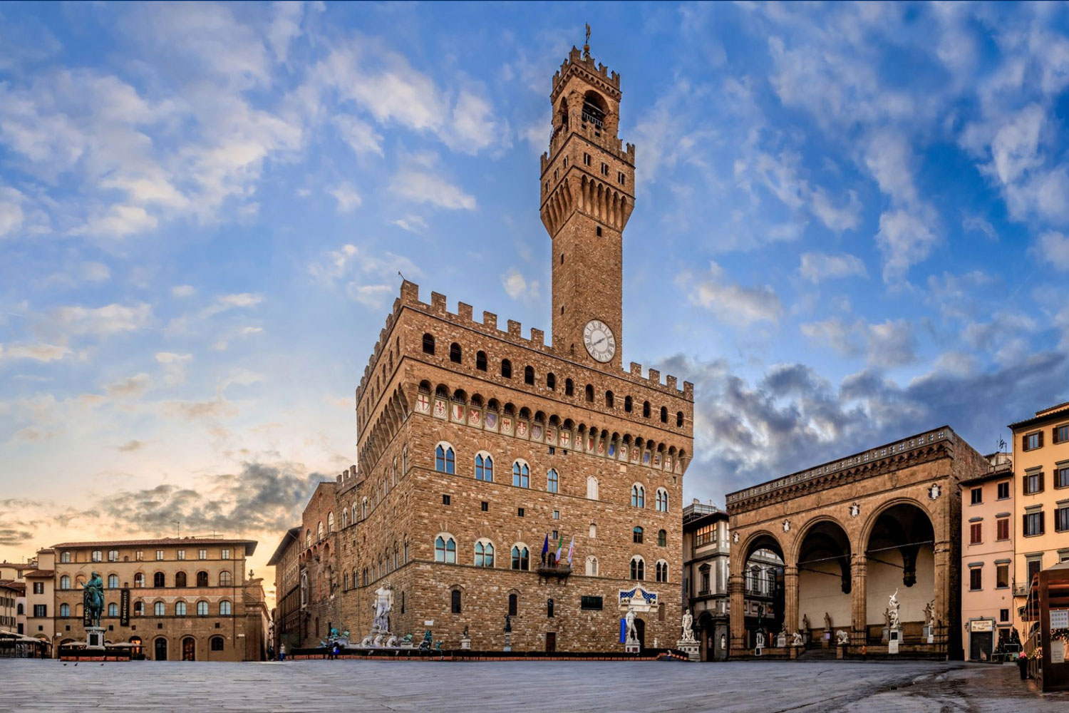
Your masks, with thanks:
M 590 57 L 590 28 L 553 77 L 541 216 L 553 243 L 553 347 L 622 368 L 623 229 L 635 204 L 635 146 L 622 144 L 620 75 Z

